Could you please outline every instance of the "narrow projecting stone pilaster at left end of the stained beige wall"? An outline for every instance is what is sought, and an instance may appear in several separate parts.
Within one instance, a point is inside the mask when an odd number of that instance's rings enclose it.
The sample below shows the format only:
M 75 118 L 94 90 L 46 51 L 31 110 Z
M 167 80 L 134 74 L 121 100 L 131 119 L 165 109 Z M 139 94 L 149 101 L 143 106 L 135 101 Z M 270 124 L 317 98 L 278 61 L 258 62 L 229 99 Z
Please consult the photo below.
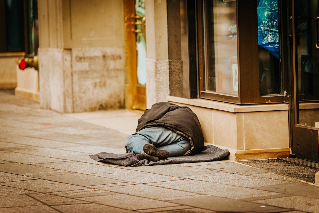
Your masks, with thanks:
M 71 112 L 64 110 L 63 102 L 67 85 L 64 85 L 63 73 L 62 0 L 39 1 L 38 16 L 40 106 L 63 113 Z

